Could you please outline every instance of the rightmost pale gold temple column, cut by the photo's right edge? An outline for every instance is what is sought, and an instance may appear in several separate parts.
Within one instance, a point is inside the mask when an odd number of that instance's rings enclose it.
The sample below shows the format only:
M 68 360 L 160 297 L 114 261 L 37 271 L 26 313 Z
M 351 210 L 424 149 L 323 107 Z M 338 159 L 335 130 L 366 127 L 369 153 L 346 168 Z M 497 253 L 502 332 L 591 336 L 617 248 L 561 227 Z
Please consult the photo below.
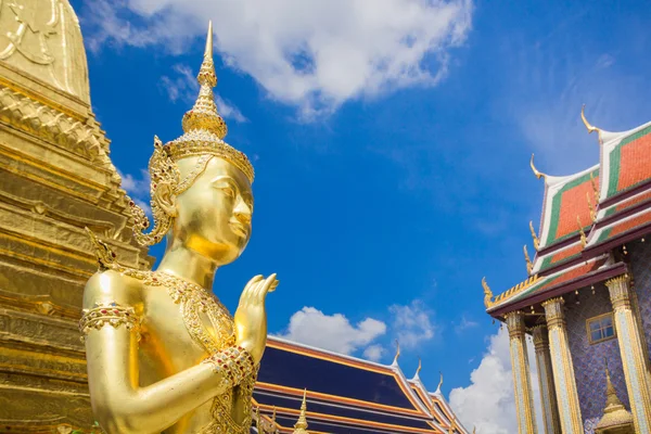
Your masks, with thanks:
M 630 308 L 631 292 L 628 275 L 605 282 L 613 304 L 615 330 L 622 354 L 626 390 L 635 422 L 636 433 L 651 432 L 651 396 L 646 372 L 642 337 Z

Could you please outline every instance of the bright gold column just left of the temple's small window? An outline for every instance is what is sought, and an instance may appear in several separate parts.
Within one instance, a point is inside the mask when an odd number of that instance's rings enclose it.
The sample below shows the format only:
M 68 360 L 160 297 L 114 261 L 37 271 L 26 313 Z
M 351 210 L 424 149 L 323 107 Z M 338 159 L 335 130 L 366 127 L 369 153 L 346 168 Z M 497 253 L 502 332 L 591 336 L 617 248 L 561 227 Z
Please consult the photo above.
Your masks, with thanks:
M 563 316 L 563 298 L 560 297 L 542 303 L 547 329 L 549 330 L 549 353 L 551 354 L 553 384 L 557 392 L 562 433 L 583 434 L 584 429 L 578 394 L 576 393 L 574 365 L 572 363 Z

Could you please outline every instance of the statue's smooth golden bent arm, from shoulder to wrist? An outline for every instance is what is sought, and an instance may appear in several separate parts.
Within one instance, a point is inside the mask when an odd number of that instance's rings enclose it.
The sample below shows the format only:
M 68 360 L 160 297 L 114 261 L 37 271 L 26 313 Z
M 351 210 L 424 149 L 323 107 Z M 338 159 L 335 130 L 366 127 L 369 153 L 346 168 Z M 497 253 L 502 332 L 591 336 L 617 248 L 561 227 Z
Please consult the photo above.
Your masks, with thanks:
M 108 433 L 159 433 L 235 385 L 244 375 L 233 373 L 231 367 L 200 363 L 139 387 L 137 321 L 142 310 L 139 293 L 139 288 L 115 271 L 93 276 L 84 293 L 81 323 L 88 326 L 85 337 L 90 397 L 95 417 Z M 112 303 L 116 304 L 113 312 L 101 308 Z M 126 315 L 131 308 L 135 320 Z M 108 314 L 101 314 L 102 310 Z M 111 320 L 114 312 L 118 319 L 116 327 L 98 323 L 98 317 Z M 235 349 L 227 349 L 232 350 Z

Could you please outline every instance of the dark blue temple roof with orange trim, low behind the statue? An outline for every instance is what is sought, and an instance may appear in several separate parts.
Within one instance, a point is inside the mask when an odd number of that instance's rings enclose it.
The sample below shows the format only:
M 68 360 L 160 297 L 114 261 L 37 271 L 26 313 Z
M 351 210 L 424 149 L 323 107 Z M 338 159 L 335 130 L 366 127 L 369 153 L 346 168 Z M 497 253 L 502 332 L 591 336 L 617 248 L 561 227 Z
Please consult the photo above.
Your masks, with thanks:
M 292 432 L 305 388 L 310 433 L 447 433 L 451 423 L 467 433 L 443 396 L 432 398 L 397 363 L 269 336 L 254 391 L 260 413 L 276 408 L 280 432 Z

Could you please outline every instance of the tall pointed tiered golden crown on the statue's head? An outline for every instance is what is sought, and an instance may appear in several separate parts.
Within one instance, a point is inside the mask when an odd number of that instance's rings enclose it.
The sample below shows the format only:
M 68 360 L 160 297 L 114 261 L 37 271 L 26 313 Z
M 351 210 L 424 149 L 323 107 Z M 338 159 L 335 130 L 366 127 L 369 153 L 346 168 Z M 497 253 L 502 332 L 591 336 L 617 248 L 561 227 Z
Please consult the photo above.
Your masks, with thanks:
M 200 85 L 199 97 L 194 106 L 183 115 L 183 135 L 165 145 L 167 154 L 174 161 L 192 155 L 215 155 L 242 170 L 253 183 L 254 170 L 246 155 L 224 141 L 228 127 L 217 112 L 213 93 L 217 75 L 213 62 L 212 22 L 208 23 L 206 50 L 196 80 Z

